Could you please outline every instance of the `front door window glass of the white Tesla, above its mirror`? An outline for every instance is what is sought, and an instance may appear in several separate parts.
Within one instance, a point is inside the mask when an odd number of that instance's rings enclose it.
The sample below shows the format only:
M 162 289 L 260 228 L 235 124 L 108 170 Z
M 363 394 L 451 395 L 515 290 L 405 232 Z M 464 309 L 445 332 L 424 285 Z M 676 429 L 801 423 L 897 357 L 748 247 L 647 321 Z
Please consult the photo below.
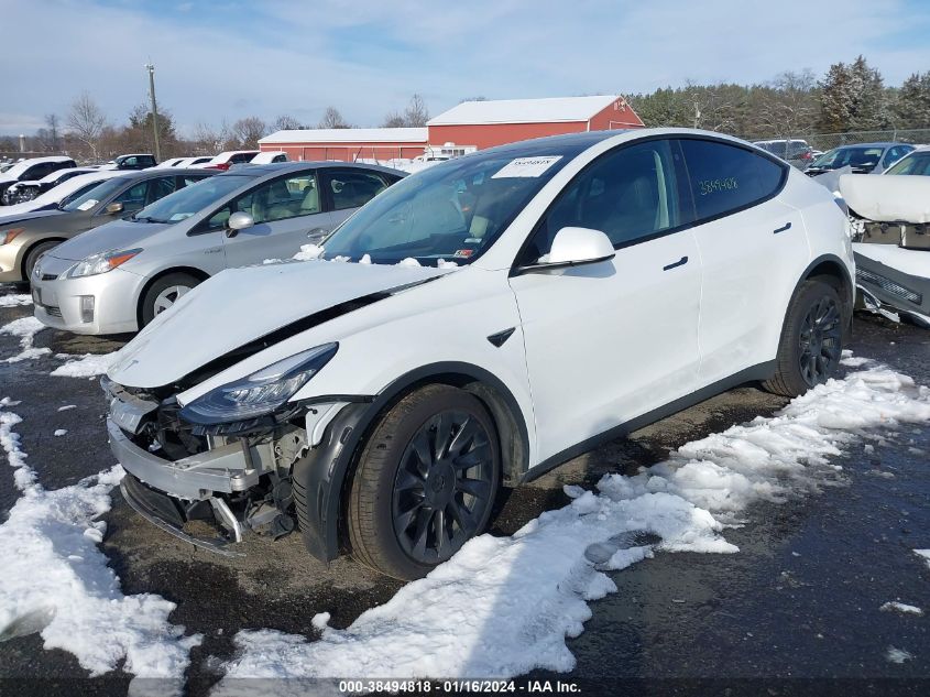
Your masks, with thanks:
M 545 262 L 562 228 L 590 228 L 625 247 L 690 222 L 687 192 L 679 190 L 681 156 L 670 141 L 654 140 L 602 155 L 579 174 L 549 208 L 521 264 Z

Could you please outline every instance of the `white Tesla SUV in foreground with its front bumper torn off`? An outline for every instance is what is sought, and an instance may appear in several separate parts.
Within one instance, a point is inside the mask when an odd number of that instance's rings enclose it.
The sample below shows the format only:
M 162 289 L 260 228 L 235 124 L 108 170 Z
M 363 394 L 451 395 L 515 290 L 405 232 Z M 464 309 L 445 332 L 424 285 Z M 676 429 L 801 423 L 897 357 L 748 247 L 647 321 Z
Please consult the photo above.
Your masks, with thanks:
M 748 143 L 524 141 L 376 196 L 305 257 L 180 297 L 103 381 L 130 504 L 195 544 L 299 529 L 423 576 L 537 477 L 712 394 L 836 370 L 853 303 L 831 194 Z

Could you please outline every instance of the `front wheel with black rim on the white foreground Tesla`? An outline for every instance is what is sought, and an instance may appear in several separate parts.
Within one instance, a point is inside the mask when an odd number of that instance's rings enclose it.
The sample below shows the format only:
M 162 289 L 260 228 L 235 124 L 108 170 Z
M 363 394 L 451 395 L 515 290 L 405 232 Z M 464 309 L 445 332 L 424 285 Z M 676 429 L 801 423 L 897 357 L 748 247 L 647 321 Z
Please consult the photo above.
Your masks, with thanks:
M 478 397 L 427 385 L 397 402 L 364 445 L 348 507 L 352 556 L 413 580 L 488 525 L 501 448 Z

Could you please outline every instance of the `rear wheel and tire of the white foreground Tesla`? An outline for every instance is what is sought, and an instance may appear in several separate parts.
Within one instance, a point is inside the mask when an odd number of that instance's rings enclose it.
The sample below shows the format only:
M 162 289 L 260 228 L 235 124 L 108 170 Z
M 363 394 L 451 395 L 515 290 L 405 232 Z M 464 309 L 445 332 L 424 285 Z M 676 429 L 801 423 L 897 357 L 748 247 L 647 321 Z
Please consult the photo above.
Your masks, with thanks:
M 775 375 L 763 388 L 797 396 L 827 382 L 840 367 L 844 329 L 843 304 L 836 288 L 819 279 L 805 281 L 788 306 Z

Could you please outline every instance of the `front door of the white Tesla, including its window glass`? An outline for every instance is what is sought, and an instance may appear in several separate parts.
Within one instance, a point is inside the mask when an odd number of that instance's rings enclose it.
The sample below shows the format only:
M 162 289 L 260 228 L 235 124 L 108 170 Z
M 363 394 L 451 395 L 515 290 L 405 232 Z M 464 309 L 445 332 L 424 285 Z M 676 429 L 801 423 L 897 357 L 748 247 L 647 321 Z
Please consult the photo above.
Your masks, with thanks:
M 677 145 L 653 140 L 594 161 L 562 190 L 511 277 L 523 323 L 539 459 L 692 392 L 701 261 Z M 609 261 L 545 262 L 565 227 L 606 233 Z

